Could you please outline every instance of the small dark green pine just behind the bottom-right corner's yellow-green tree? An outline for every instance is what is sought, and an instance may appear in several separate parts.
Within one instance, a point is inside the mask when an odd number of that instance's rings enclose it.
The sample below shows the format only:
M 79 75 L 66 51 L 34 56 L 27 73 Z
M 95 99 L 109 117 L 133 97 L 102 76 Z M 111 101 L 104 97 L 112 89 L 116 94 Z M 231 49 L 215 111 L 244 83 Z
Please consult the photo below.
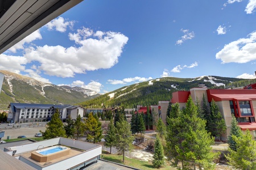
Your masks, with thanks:
M 242 130 L 238 126 L 236 117 L 234 117 L 234 115 L 232 114 L 231 129 L 228 136 L 228 145 L 230 149 L 232 149 L 233 151 L 237 151 L 237 143 L 232 138 L 233 135 L 237 138 L 240 138 L 242 135 Z

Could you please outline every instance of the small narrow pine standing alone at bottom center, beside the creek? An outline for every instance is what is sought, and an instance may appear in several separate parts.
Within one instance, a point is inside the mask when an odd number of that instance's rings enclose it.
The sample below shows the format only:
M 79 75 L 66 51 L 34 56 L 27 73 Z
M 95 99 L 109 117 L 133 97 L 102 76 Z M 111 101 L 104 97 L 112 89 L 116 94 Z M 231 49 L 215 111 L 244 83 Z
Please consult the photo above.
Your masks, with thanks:
M 153 156 L 153 166 L 159 168 L 164 164 L 164 150 L 162 142 L 159 139 L 159 136 L 156 135 L 156 141 L 154 146 L 154 156 Z

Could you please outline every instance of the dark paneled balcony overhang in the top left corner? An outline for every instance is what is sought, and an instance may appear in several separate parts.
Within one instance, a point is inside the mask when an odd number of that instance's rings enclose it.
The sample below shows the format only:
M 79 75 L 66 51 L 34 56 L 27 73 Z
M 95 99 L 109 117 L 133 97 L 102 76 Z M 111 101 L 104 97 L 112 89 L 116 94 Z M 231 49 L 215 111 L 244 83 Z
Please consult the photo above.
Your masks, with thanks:
M 83 0 L 1 0 L 0 54 Z

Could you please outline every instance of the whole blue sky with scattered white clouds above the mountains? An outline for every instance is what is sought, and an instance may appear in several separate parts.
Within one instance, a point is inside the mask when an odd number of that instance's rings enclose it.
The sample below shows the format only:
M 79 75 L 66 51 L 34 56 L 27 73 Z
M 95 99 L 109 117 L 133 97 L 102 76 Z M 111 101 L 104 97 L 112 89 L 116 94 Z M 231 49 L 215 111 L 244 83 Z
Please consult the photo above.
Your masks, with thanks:
M 85 0 L 0 55 L 0 70 L 100 93 L 166 76 L 256 78 L 256 0 Z

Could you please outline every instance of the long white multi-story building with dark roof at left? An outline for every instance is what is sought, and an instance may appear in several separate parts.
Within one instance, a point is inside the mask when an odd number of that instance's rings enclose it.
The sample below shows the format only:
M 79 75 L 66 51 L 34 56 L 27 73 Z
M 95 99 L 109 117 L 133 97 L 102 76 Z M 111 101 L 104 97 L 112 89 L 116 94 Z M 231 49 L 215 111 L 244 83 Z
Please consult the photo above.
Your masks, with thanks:
M 74 105 L 55 105 L 55 104 L 28 104 L 28 103 L 10 103 L 7 121 L 10 122 L 40 122 L 49 121 L 51 116 L 59 110 L 61 120 L 70 114 L 72 119 L 77 115 L 84 116 L 85 108 Z

